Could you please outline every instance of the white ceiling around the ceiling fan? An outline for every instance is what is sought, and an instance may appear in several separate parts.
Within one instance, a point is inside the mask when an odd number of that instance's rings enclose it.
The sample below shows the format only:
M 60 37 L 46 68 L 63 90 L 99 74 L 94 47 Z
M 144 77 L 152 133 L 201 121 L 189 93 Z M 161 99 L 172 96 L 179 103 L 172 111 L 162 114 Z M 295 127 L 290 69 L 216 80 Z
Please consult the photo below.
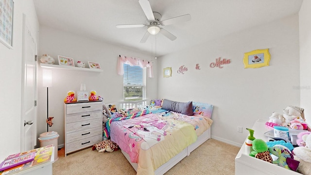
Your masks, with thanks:
M 40 25 L 143 53 L 155 54 L 156 49 L 157 56 L 297 14 L 302 4 L 302 0 L 149 1 L 162 20 L 191 15 L 190 21 L 162 26 L 177 36 L 176 40 L 158 34 L 140 43 L 147 27 L 116 28 L 118 24 L 147 24 L 138 0 L 34 0 L 34 3 Z

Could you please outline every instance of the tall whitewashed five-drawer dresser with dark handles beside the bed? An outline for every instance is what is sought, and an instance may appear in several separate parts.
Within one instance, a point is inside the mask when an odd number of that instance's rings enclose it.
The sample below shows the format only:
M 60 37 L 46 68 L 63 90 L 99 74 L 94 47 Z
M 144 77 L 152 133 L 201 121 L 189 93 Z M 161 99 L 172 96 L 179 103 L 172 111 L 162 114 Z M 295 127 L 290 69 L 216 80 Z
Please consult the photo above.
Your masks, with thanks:
M 102 101 L 65 103 L 65 156 L 103 140 Z

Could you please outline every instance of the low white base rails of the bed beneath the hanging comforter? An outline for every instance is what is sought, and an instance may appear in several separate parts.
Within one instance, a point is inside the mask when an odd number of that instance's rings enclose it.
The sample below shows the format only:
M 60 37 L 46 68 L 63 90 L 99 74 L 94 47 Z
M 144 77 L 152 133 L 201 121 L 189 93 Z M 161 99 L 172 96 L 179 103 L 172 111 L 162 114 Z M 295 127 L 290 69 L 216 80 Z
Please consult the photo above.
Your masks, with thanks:
M 156 169 L 155 175 L 163 175 L 164 173 L 169 171 L 180 160 L 182 160 L 186 156 L 189 156 L 193 150 L 195 150 L 197 147 L 199 147 L 202 143 L 204 143 L 208 139 L 210 139 L 210 128 L 208 128 L 203 134 L 201 134 L 196 140 L 196 142 L 189 145 L 187 148 L 185 148 L 175 157 L 171 158 L 168 162 L 166 162 L 165 164 L 161 165 L 158 169 Z M 123 150 L 121 150 L 121 152 L 126 157 L 127 161 L 132 165 L 132 167 L 137 172 L 138 164 L 131 162 L 130 156 L 126 152 L 124 152 Z

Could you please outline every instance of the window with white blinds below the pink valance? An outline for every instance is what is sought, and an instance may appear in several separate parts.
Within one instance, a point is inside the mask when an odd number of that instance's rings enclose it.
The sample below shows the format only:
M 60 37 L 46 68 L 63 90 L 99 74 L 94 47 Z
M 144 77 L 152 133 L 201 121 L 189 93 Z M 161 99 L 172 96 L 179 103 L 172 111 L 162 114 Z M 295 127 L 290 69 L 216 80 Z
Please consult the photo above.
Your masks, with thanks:
M 123 69 L 124 101 L 146 99 L 146 68 L 123 64 Z

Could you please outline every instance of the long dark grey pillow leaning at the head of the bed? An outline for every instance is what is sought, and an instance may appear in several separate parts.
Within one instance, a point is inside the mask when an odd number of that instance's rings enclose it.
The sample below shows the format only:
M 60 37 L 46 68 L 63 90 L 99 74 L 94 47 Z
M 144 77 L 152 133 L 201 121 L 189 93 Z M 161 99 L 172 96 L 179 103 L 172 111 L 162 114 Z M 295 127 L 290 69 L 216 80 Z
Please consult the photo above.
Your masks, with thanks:
M 193 115 L 192 102 L 182 103 L 164 99 L 162 109 L 171 110 L 185 115 Z

